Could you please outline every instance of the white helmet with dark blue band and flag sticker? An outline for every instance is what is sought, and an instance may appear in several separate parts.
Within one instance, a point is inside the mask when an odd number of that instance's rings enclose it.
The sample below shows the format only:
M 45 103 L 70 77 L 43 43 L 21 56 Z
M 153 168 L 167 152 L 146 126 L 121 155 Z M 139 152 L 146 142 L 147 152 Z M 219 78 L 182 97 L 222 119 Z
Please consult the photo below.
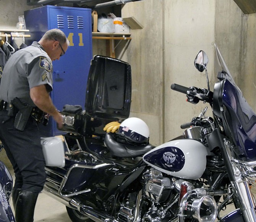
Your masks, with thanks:
M 149 140 L 147 124 L 136 117 L 130 117 L 123 121 L 119 126 L 117 134 L 135 143 L 148 143 Z

